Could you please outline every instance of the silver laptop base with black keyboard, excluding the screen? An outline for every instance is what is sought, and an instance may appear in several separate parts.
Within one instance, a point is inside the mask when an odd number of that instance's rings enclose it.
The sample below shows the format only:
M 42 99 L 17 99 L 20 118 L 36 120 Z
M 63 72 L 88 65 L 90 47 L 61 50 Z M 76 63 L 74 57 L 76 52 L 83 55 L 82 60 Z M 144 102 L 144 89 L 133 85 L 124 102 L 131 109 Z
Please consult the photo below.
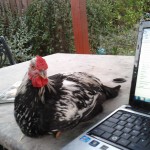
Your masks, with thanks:
M 129 105 L 123 105 L 62 150 L 148 150 L 150 140 L 146 141 L 146 136 L 144 137 L 147 126 L 144 126 L 145 121 L 141 122 L 141 118 L 149 120 L 147 122 L 150 123 L 149 115 L 132 109 Z M 150 133 L 147 137 L 149 136 Z

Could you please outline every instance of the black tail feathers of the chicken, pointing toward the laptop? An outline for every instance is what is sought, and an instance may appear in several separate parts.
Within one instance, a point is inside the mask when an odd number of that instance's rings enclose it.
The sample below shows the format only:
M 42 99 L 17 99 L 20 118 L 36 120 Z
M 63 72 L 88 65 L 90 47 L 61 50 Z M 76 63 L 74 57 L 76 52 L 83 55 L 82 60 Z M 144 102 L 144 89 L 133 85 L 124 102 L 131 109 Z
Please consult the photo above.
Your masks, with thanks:
M 106 94 L 106 99 L 115 98 L 116 96 L 118 96 L 120 87 L 121 85 L 118 85 L 113 88 L 103 85 L 102 88 L 103 88 L 103 92 Z

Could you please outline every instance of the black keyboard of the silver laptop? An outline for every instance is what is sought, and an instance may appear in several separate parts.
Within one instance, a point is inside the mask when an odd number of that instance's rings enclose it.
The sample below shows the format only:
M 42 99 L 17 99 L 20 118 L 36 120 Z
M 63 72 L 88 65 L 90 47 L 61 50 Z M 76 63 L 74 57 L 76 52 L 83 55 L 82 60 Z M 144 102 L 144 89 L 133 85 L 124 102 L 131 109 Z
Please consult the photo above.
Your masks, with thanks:
M 150 150 L 150 118 L 118 111 L 89 131 L 131 150 Z

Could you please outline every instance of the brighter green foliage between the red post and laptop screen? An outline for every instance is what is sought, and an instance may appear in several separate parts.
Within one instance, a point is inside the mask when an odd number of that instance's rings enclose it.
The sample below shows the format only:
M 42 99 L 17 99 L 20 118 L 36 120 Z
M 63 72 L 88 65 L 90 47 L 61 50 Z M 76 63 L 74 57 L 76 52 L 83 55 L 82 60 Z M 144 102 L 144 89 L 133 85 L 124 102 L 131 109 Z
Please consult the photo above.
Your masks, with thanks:
M 107 54 L 134 55 L 137 24 L 149 10 L 148 1 L 87 0 L 91 51 L 105 48 Z

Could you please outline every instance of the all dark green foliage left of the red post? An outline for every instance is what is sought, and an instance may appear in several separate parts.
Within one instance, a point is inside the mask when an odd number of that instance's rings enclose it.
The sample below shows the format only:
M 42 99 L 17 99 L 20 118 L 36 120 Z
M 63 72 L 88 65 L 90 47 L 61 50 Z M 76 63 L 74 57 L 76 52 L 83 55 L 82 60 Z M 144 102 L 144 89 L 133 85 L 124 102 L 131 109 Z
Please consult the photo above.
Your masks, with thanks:
M 5 36 L 17 62 L 35 55 L 74 52 L 69 0 L 33 0 L 27 11 L 18 14 L 0 6 L 0 34 Z

